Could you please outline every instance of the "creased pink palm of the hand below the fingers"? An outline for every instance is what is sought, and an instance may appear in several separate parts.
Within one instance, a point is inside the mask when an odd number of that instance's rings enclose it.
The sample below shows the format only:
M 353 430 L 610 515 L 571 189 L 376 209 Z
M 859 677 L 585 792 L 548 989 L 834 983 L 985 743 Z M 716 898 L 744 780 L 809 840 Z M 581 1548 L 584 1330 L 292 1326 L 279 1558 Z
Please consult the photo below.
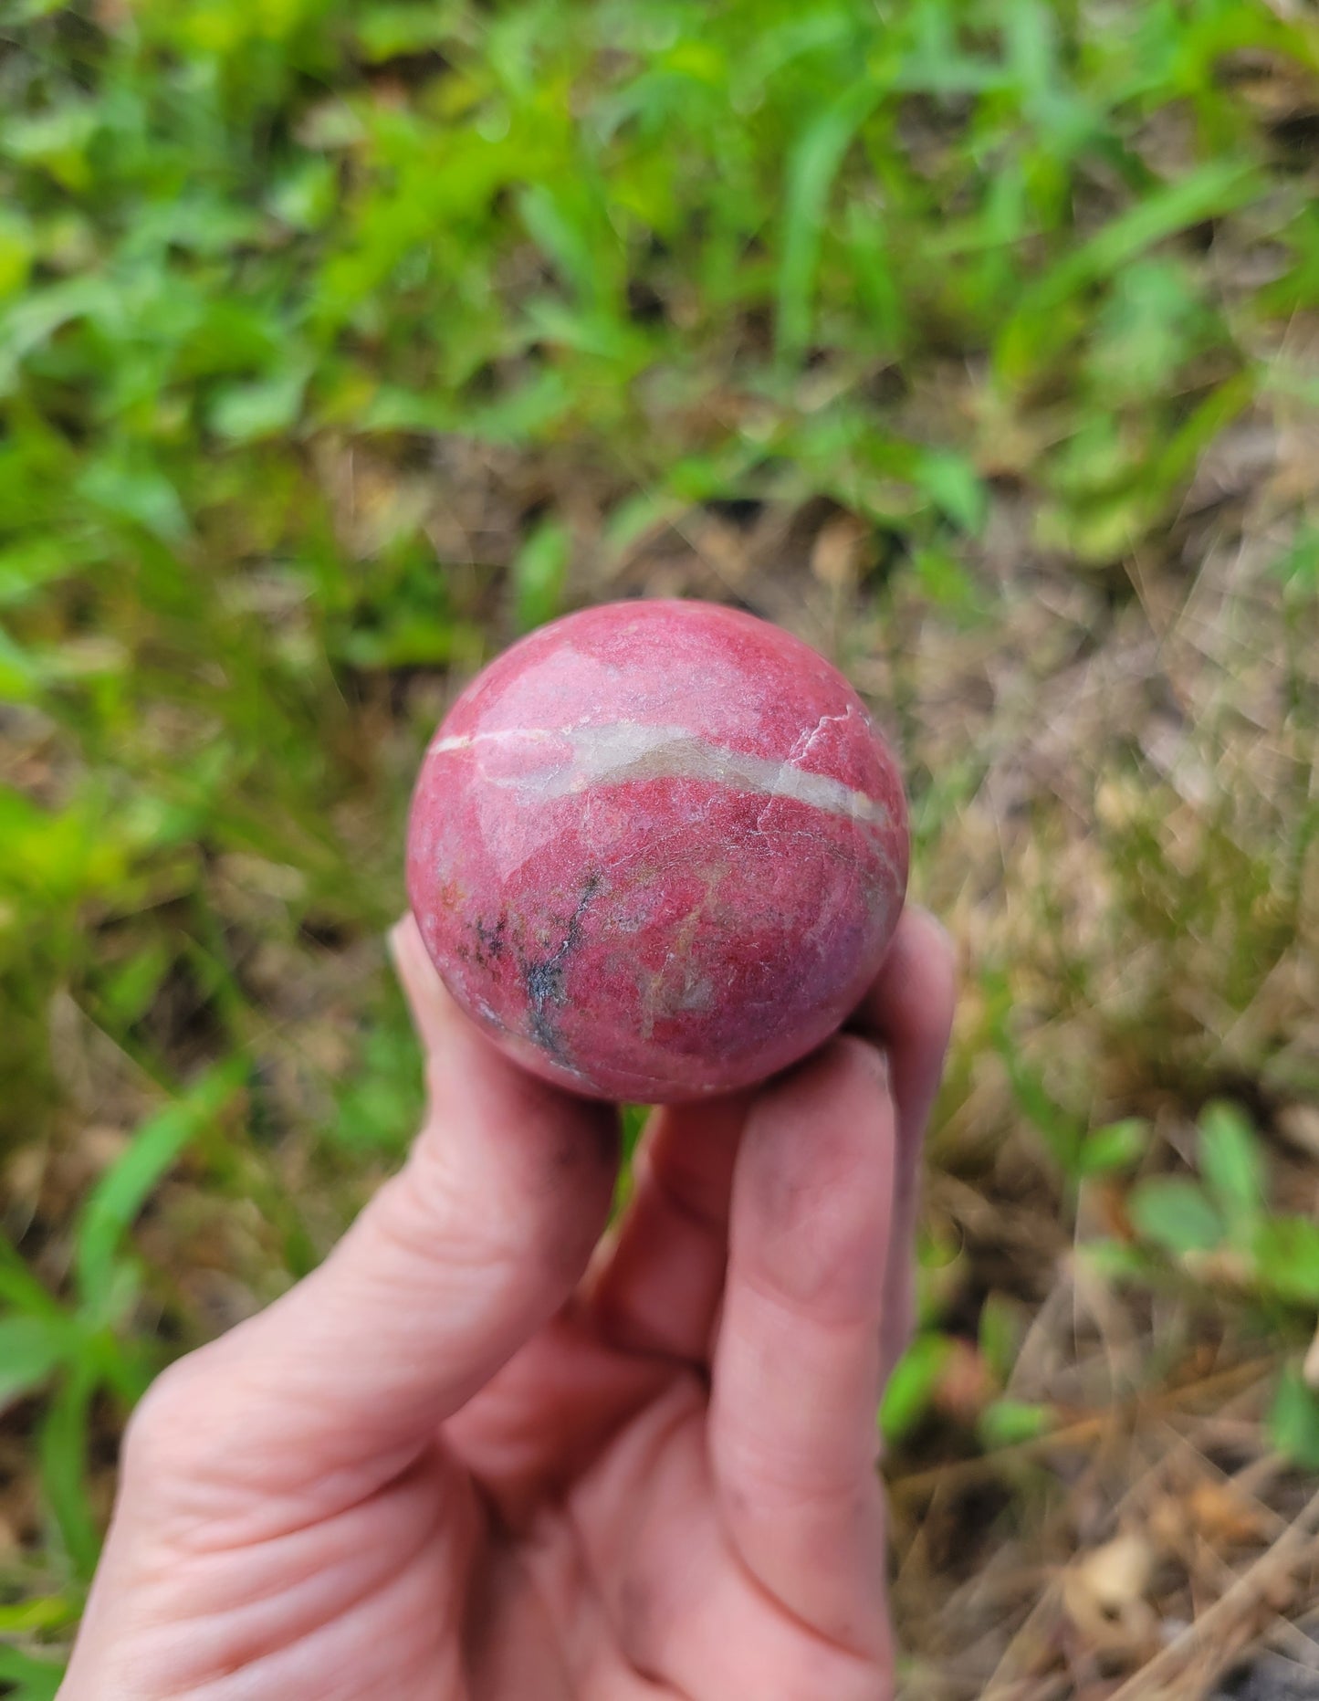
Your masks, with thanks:
M 296 1681 L 270 1694 L 338 1696 L 338 1682 L 345 1698 L 399 1701 L 887 1696 L 879 1589 L 855 1626 L 862 1652 L 799 1621 L 744 1565 L 709 1476 L 699 1378 L 580 1335 L 544 1349 L 563 1349 L 573 1374 L 598 1373 L 597 1391 L 617 1402 L 610 1439 L 581 1470 L 580 1436 L 537 1446 L 527 1434 L 507 1471 L 476 1475 L 437 1448 L 364 1509 L 335 1587 L 359 1597 L 371 1550 L 408 1556 L 360 1597 L 384 1669 L 345 1677 L 340 1621 L 296 1650 Z M 529 1431 L 544 1410 L 527 1412 Z

